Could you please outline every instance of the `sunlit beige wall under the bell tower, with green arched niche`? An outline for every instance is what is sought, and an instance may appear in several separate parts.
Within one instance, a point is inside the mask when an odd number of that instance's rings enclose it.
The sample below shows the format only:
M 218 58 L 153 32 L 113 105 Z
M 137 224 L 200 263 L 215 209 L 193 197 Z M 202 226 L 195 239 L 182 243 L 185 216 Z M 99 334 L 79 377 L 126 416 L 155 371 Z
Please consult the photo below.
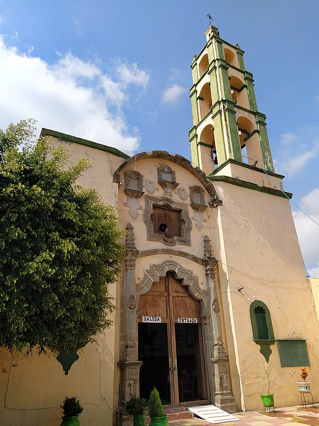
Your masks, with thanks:
M 319 373 L 319 326 L 289 201 L 225 183 L 215 187 L 223 205 L 211 238 L 223 262 L 219 275 L 232 386 L 238 409 L 241 402 L 247 411 L 262 408 L 259 395 L 267 393 L 266 363 L 252 338 L 250 304 L 260 300 L 268 306 L 275 339 L 307 340 L 310 380 Z M 282 368 L 277 344 L 271 348 L 275 405 L 298 405 L 300 367 Z M 318 395 L 316 381 L 312 389 Z

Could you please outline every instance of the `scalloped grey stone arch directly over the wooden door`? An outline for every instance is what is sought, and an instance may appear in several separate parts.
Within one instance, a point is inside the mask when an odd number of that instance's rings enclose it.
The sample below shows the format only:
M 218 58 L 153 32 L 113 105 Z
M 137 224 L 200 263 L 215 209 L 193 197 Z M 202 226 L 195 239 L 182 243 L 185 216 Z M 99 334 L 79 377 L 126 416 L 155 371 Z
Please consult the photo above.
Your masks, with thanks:
M 136 291 L 139 294 L 145 294 L 151 290 L 154 282 L 160 281 L 160 277 L 164 277 L 168 271 L 174 273 L 175 278 L 182 281 L 183 286 L 188 287 L 189 293 L 194 299 L 202 300 L 206 291 L 198 285 L 198 278 L 192 274 L 190 269 L 183 268 L 174 260 L 164 260 L 159 265 L 152 265 L 150 269 L 144 273 L 144 278 Z

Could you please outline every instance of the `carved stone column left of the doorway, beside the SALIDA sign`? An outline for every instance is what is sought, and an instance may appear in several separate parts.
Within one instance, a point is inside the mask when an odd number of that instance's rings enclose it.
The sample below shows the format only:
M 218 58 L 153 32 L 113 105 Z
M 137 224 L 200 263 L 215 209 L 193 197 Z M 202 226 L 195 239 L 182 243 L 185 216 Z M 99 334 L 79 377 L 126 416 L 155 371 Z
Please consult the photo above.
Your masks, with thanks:
M 126 227 L 126 258 L 124 262 L 122 294 L 121 294 L 121 343 L 120 360 L 121 381 L 119 390 L 119 409 L 132 397 L 140 395 L 139 373 L 142 362 L 138 361 L 137 333 L 137 295 L 135 265 L 139 255 L 134 240 L 134 227 L 128 223 Z M 122 406 L 122 407 L 121 407 Z M 121 410 L 120 410 L 121 411 Z M 128 416 L 119 416 L 119 425 L 130 425 Z

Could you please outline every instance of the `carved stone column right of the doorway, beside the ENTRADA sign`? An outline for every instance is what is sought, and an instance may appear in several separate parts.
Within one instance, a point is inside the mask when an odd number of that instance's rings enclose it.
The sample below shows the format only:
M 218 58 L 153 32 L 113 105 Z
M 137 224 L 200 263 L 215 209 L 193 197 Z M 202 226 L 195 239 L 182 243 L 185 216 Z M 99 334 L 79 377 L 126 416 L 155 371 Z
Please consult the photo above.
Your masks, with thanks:
M 207 236 L 204 238 L 203 265 L 206 275 L 208 297 L 207 304 L 209 304 L 211 321 L 210 327 L 212 328 L 213 340 L 213 350 L 209 349 L 208 355 L 212 355 L 210 362 L 212 363 L 214 372 L 214 404 L 216 407 L 219 407 L 228 413 L 235 413 L 235 398 L 231 395 L 230 392 L 230 381 L 228 373 L 229 359 L 226 354 L 221 334 L 220 308 L 215 278 L 217 260 L 212 257 L 210 240 Z M 206 322 L 207 321 L 209 321 L 208 318 L 206 318 Z

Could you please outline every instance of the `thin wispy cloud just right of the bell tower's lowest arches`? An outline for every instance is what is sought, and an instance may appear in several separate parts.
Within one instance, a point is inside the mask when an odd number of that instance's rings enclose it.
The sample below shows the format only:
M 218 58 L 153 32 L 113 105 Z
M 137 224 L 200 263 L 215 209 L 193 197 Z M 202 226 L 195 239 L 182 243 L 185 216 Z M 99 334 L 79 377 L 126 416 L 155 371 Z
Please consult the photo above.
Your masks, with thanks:
M 309 160 L 318 157 L 318 129 L 306 126 L 301 136 L 292 132 L 281 135 L 279 158 L 274 158 L 275 169 L 291 177 L 301 171 Z

